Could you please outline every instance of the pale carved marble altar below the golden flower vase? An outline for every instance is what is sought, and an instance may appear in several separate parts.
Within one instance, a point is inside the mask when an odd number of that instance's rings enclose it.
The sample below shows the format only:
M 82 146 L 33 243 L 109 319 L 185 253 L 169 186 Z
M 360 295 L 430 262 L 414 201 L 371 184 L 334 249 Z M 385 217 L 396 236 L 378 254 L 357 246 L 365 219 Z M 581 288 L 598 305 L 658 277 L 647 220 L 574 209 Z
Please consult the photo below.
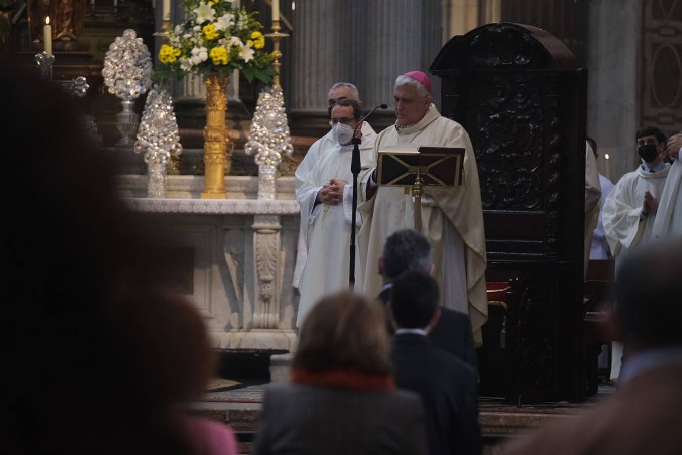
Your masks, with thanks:
M 166 199 L 147 199 L 146 175 L 119 175 L 125 203 L 172 214 L 166 226 L 179 261 L 177 289 L 205 317 L 216 347 L 293 351 L 299 296 L 291 282 L 299 205 L 293 177 L 278 179 L 278 199 L 258 200 L 258 177 L 226 177 L 228 199 L 198 199 L 203 177 L 171 175 Z

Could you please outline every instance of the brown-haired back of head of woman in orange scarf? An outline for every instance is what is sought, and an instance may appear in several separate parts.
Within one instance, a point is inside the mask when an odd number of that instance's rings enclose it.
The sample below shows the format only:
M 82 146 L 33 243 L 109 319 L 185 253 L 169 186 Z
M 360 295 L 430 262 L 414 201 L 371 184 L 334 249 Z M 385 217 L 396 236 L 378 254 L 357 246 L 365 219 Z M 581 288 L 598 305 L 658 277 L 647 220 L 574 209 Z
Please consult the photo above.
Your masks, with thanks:
M 292 367 L 295 382 L 327 381 L 344 373 L 388 377 L 383 307 L 353 293 L 323 297 L 303 322 Z

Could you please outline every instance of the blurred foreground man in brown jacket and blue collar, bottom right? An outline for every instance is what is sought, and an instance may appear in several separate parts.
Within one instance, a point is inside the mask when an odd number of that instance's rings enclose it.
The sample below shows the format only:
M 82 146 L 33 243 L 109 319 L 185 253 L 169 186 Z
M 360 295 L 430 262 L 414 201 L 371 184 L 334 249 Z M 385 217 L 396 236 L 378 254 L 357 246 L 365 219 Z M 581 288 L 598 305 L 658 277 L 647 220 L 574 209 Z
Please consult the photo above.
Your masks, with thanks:
M 614 325 L 627 355 L 615 394 L 509 444 L 515 454 L 682 454 L 680 239 L 633 250 L 619 271 Z

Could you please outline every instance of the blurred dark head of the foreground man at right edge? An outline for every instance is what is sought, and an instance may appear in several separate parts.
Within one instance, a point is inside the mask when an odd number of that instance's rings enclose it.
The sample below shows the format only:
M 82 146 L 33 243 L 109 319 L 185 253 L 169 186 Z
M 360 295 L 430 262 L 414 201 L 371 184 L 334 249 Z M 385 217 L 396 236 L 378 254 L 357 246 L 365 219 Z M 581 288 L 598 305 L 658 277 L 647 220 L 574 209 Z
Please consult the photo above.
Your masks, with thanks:
M 677 279 L 682 239 L 649 244 L 629 254 L 619 269 L 614 319 L 627 356 L 655 349 L 682 349 L 682 305 Z

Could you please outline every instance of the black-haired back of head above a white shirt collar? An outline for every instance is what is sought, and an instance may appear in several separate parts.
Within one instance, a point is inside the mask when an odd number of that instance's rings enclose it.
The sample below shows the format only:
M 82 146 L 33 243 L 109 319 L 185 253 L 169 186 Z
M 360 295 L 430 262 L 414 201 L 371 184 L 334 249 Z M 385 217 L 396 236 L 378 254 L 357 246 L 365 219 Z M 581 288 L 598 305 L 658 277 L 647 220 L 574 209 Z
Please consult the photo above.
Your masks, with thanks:
M 441 317 L 436 280 L 421 271 L 410 271 L 393 283 L 389 304 L 396 329 L 423 329 L 428 333 Z

